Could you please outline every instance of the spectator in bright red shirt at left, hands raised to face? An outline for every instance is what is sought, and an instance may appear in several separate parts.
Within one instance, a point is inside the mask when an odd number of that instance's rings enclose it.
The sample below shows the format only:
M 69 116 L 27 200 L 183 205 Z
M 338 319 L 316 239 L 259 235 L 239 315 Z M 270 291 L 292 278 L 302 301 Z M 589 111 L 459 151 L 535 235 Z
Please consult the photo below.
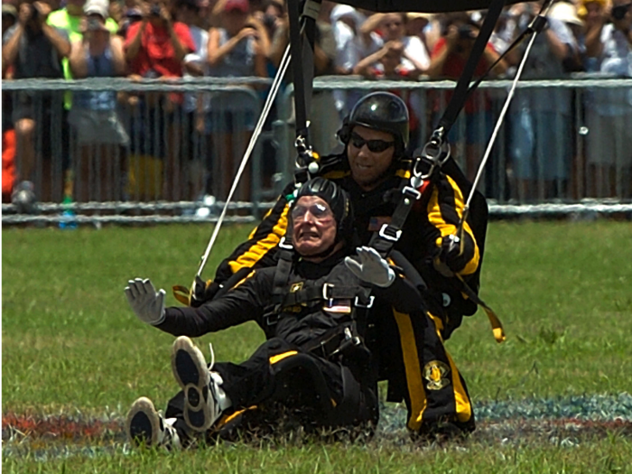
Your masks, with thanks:
M 196 50 L 189 27 L 173 21 L 166 0 L 144 0 L 140 12 L 142 20 L 132 23 L 125 36 L 125 60 L 129 64 L 130 78 L 180 78 L 184 56 Z M 181 198 L 175 195 L 175 191 L 181 189 L 175 183 L 185 178 L 181 176 L 181 166 L 174 152 L 173 127 L 181 103 L 181 94 L 175 93 L 148 93 L 130 98 L 130 105 L 135 107 L 130 136 L 132 200 Z M 155 113 L 156 107 L 160 112 Z M 163 134 L 163 130 L 167 130 L 167 134 Z

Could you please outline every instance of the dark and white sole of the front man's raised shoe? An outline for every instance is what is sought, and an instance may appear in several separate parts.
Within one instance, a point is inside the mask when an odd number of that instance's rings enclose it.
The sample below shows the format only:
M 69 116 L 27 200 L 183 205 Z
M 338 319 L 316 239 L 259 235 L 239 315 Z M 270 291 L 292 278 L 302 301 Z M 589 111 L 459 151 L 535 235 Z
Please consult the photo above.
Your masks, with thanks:
M 184 422 L 196 432 L 205 432 L 213 423 L 207 400 L 210 373 L 206 360 L 191 339 L 181 336 L 172 348 L 172 371 L 184 392 Z

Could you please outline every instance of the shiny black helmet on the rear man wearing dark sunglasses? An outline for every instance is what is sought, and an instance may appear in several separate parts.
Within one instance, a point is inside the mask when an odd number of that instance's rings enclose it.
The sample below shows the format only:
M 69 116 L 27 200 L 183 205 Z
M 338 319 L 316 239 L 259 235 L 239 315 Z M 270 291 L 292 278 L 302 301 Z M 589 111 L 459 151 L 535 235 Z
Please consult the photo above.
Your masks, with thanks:
M 408 121 L 408 108 L 401 98 L 390 92 L 372 92 L 358 100 L 338 136 L 344 144 L 349 144 L 351 130 L 355 125 L 388 132 L 395 137 L 396 155 L 401 155 L 408 146 Z

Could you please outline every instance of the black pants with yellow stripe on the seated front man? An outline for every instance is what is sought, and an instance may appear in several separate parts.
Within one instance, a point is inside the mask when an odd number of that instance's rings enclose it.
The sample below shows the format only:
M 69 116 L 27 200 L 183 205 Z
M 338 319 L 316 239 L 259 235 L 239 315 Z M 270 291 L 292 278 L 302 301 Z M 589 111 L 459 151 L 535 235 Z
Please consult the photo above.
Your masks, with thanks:
M 211 437 L 267 434 L 296 423 L 308 432 L 372 432 L 377 423 L 375 383 L 361 384 L 347 365 L 304 352 L 283 339 L 265 341 L 241 364 L 217 363 L 213 370 L 222 376 L 232 407 L 213 427 Z M 182 403 L 180 393 L 169 402 L 166 416 L 181 419 Z

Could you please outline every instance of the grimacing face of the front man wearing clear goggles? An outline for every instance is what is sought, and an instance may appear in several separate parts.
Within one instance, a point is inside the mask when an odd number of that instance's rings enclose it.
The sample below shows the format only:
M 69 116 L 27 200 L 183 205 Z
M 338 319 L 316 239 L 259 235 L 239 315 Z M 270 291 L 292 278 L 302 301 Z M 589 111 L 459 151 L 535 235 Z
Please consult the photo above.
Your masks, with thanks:
M 336 219 L 327 201 L 303 196 L 293 207 L 293 245 L 301 256 L 316 256 L 336 241 Z

